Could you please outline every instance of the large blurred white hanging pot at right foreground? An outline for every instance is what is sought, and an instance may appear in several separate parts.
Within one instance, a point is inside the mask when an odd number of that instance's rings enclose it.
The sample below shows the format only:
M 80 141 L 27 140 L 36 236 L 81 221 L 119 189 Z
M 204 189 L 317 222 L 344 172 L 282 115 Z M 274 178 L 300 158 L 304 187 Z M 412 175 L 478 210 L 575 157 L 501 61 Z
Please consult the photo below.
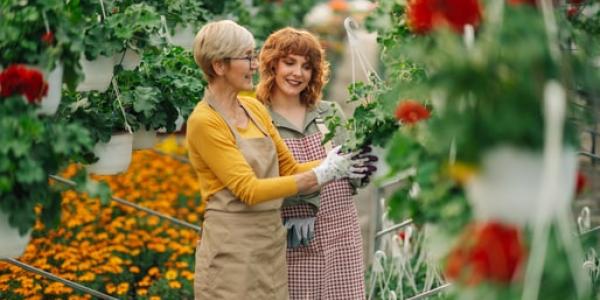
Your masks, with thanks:
M 553 199 L 540 199 L 544 160 L 541 152 L 503 146 L 487 152 L 481 169 L 466 183 L 475 218 L 523 226 L 548 221 L 568 209 L 575 190 L 577 154 L 565 149 L 560 187 Z M 551 202 L 554 201 L 554 202 Z

